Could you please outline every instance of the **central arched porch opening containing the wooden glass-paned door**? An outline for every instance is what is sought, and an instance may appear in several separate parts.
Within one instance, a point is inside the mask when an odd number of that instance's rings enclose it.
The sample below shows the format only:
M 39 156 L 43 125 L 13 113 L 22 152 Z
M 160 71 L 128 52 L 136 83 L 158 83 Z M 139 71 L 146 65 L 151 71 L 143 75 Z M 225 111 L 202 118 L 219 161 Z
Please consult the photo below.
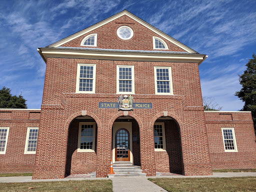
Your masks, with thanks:
M 140 166 L 139 125 L 131 116 L 119 116 L 113 122 L 112 161 L 129 161 Z

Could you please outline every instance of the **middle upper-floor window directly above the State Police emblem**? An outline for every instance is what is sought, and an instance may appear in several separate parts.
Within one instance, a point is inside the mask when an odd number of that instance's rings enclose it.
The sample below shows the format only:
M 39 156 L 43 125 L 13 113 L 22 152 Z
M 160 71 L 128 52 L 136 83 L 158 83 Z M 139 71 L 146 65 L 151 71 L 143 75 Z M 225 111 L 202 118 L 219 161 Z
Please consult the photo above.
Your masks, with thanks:
M 134 67 L 117 65 L 116 84 L 116 93 L 134 94 Z

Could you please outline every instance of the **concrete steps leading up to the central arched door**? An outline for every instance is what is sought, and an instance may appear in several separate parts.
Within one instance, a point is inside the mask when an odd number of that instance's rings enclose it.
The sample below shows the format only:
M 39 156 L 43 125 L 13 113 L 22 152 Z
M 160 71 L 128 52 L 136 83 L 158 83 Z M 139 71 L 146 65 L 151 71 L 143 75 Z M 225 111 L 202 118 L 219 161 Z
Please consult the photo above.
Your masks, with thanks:
M 141 167 L 133 165 L 127 161 L 117 161 L 113 163 L 113 172 L 115 174 L 108 174 L 109 178 L 112 177 L 133 177 L 133 176 L 146 176 L 142 173 Z

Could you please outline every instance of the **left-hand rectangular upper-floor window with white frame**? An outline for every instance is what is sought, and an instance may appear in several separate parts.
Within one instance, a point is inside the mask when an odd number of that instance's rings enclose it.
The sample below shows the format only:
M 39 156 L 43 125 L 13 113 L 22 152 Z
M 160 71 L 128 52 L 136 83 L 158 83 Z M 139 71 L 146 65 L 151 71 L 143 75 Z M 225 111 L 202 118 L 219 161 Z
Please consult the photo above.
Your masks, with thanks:
M 96 64 L 77 65 L 76 92 L 95 93 Z

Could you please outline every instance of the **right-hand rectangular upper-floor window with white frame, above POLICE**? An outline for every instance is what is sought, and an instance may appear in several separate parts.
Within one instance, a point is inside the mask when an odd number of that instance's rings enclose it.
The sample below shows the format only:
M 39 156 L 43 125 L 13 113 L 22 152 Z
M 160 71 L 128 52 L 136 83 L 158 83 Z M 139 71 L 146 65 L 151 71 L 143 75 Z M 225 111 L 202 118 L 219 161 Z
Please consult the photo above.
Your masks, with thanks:
M 170 66 L 154 67 L 155 94 L 173 94 Z

